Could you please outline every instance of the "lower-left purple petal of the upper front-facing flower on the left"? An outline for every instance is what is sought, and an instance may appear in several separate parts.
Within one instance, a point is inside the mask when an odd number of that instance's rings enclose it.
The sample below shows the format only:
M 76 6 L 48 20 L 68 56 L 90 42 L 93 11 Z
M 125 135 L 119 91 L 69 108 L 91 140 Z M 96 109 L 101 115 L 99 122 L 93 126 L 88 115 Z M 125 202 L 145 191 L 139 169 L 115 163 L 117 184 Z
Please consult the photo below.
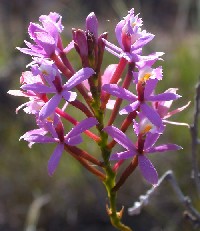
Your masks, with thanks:
M 45 103 L 45 105 L 40 110 L 39 118 L 42 120 L 51 115 L 60 103 L 61 98 L 62 96 L 60 94 L 56 94 L 47 103 Z

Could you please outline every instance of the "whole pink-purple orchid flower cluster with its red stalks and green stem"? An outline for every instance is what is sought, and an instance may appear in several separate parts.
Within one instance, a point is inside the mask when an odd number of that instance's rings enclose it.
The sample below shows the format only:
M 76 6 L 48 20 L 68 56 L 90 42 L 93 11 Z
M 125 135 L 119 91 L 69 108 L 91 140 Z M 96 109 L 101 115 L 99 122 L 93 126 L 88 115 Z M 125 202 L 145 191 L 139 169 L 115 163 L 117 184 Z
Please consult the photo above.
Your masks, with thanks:
M 155 93 L 163 72 L 161 66 L 154 64 L 162 60 L 163 53 L 143 55 L 143 47 L 154 35 L 142 29 L 142 19 L 134 14 L 134 9 L 116 25 L 118 45 L 108 41 L 107 32 L 98 35 L 98 20 L 90 13 L 85 28 L 73 28 L 72 41 L 64 46 L 61 19 L 57 13 L 40 16 L 40 24 L 30 23 L 28 27 L 32 43 L 25 41 L 27 48 L 17 48 L 30 55 L 32 62 L 21 75 L 21 90 L 10 90 L 9 94 L 27 98 L 16 112 L 23 108 L 34 116 L 37 125 L 20 139 L 28 141 L 30 147 L 35 143 L 55 143 L 48 161 L 51 176 L 64 151 L 74 157 L 105 185 L 112 225 L 131 230 L 121 222 L 123 209 L 117 211 L 117 191 L 137 166 L 147 182 L 157 184 L 158 174 L 148 156 L 181 149 L 171 143 L 155 144 L 170 123 L 167 119 L 187 105 L 169 111 L 172 102 L 180 97 L 176 88 Z M 80 59 L 79 70 L 68 58 L 72 49 Z M 102 71 L 105 51 L 116 56 L 119 63 L 111 62 Z M 82 121 L 70 114 L 71 106 L 83 113 Z M 123 119 L 121 125 L 116 123 L 119 116 Z M 68 129 L 67 124 L 73 128 Z M 129 134 L 133 133 L 131 138 L 125 134 L 128 129 Z M 98 145 L 99 158 L 78 146 L 83 134 Z M 122 151 L 113 153 L 116 145 Z

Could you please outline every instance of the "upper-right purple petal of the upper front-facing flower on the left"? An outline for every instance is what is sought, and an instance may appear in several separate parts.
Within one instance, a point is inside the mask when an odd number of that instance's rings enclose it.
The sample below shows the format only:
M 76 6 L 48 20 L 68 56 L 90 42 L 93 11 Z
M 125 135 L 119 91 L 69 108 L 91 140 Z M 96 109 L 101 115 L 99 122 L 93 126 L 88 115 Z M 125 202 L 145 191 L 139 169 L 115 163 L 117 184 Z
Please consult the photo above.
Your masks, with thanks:
M 92 68 L 86 67 L 82 68 L 81 70 L 77 71 L 64 85 L 64 88 L 70 90 L 71 88 L 75 87 L 76 85 L 80 84 L 84 80 L 88 79 L 91 75 L 95 72 Z

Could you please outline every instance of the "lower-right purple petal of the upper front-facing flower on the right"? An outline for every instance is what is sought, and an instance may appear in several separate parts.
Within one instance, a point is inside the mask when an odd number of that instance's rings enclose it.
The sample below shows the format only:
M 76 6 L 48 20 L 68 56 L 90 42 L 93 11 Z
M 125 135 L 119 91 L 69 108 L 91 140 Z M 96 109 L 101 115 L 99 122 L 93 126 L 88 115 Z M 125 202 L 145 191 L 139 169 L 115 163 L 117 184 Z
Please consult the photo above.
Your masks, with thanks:
M 162 126 L 162 119 L 153 108 L 149 107 L 146 103 L 142 103 L 140 105 L 140 108 L 152 124 L 154 124 L 157 127 Z

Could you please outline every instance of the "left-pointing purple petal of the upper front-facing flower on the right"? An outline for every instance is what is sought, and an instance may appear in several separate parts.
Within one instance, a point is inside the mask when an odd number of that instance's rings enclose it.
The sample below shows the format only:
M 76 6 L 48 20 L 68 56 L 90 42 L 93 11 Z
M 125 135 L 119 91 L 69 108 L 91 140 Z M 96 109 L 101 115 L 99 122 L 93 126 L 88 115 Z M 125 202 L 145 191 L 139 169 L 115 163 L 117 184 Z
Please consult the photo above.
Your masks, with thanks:
M 104 84 L 102 90 L 108 92 L 111 95 L 119 97 L 120 99 L 125 99 L 131 102 L 137 100 L 136 95 L 124 89 L 123 87 L 118 86 L 117 84 Z

